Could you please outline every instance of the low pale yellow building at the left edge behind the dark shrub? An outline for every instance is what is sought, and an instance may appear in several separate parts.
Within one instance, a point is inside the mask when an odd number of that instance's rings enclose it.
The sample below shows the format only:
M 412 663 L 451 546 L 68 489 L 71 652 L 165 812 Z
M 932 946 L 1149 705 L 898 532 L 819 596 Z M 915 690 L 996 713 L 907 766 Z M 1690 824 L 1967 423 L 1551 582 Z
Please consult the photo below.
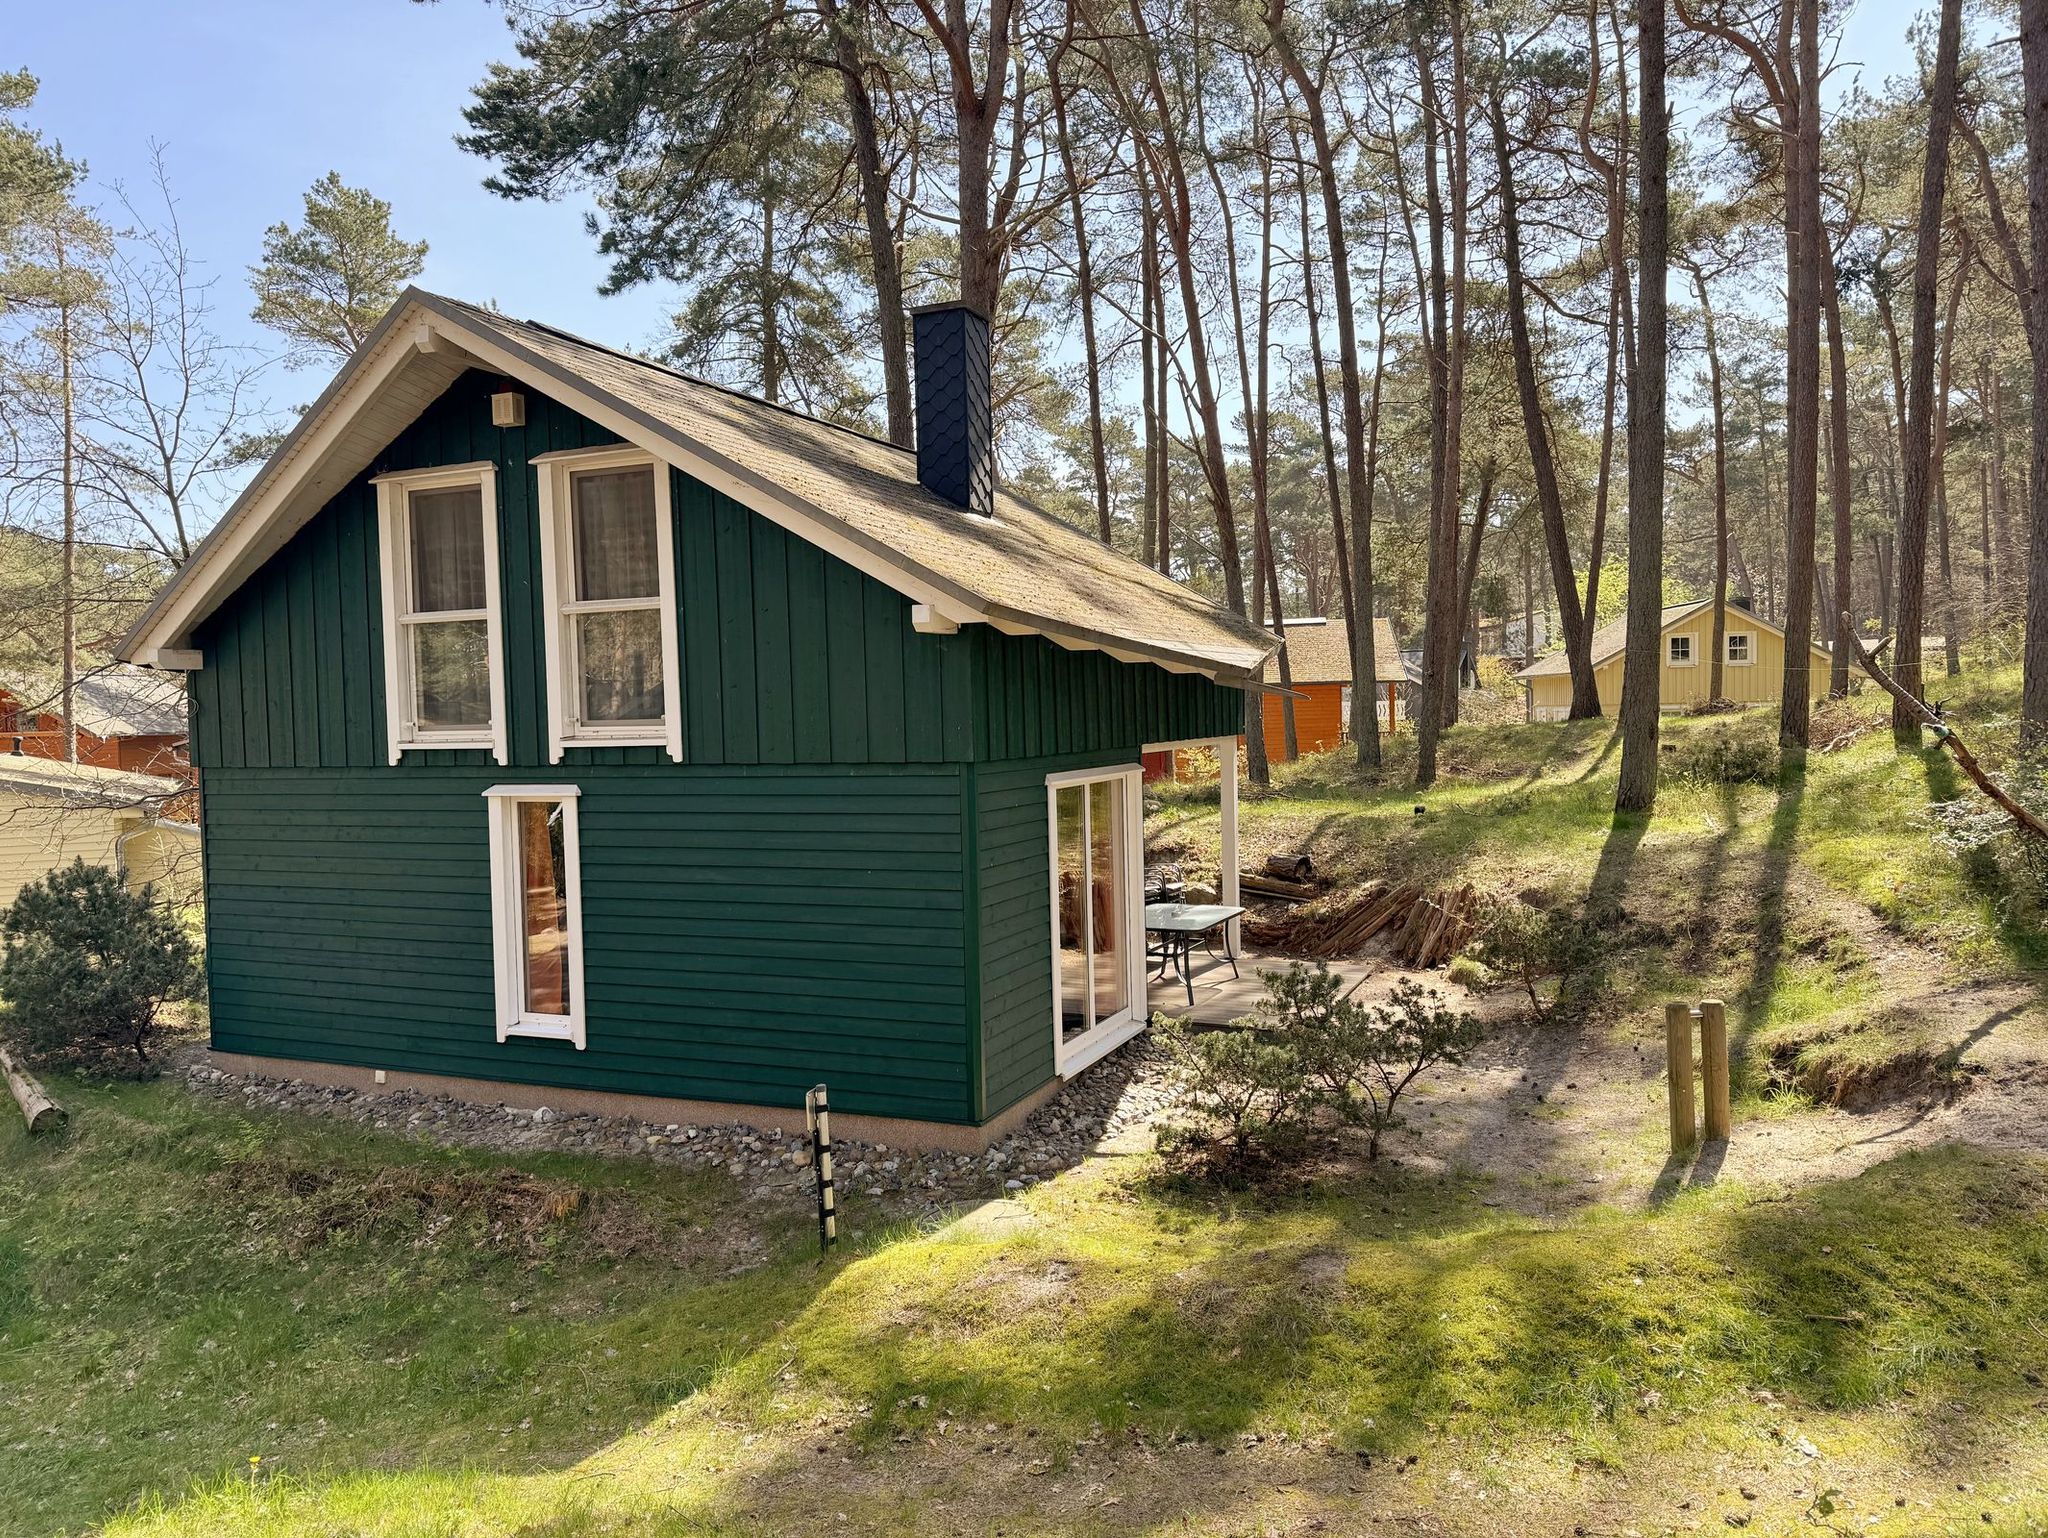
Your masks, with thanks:
M 199 893 L 199 829 L 166 809 L 190 797 L 184 780 L 158 774 L 0 754 L 0 907 L 59 864 L 84 860 L 119 870 L 131 891 Z

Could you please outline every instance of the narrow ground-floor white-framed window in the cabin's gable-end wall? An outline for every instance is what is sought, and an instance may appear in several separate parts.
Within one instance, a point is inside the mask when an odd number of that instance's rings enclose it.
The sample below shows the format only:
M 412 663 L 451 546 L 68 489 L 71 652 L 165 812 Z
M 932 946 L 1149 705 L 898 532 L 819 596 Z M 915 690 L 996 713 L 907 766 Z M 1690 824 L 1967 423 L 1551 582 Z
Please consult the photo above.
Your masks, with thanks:
M 494 784 L 492 958 L 498 1040 L 584 1046 L 584 879 L 573 784 Z

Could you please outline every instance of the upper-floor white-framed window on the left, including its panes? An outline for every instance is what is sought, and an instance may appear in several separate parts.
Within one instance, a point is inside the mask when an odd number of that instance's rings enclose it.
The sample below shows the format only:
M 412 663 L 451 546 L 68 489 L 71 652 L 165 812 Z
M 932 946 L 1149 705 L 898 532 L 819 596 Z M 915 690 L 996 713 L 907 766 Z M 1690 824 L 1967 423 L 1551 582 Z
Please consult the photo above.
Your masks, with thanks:
M 373 483 L 391 762 L 408 747 L 487 747 L 504 764 L 498 469 L 442 465 Z

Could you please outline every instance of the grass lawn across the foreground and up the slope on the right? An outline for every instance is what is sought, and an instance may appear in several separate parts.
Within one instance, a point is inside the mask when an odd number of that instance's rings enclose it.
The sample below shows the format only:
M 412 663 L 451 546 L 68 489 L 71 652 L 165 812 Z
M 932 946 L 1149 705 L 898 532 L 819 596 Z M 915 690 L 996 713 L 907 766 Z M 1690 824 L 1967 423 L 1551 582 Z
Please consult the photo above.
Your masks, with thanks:
M 1948 1051 L 1929 999 L 1985 977 L 2032 997 L 2023 889 L 1923 825 L 1939 762 L 1872 733 L 1616 827 L 1606 743 L 1460 729 L 1425 797 L 1309 762 L 1247 844 L 1612 907 L 1554 1030 L 1724 993 L 1745 1126 L 1851 1145 L 1786 1065 Z M 1233 1192 L 1120 1147 L 999 1223 L 856 1198 L 819 1266 L 721 1171 L 61 1094 L 68 1133 L 0 1128 L 8 1536 L 2048 1532 L 2048 1159 L 2013 1147 L 1563 1216 L 1479 1165 Z

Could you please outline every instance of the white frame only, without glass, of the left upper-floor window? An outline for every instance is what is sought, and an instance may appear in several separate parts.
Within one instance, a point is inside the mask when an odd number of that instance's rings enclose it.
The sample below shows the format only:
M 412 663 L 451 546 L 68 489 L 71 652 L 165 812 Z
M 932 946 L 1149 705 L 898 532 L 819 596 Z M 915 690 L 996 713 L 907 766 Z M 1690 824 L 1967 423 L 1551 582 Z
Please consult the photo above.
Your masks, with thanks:
M 385 635 L 385 743 L 389 760 L 412 750 L 485 747 L 500 764 L 510 762 L 506 737 L 504 602 L 498 578 L 498 467 L 436 465 L 393 471 L 371 479 L 377 487 L 377 539 L 383 580 Z M 492 674 L 492 719 L 483 729 L 424 731 L 412 721 L 412 647 L 406 629 L 412 618 L 412 494 L 475 485 L 483 516 L 483 610 L 436 612 L 436 621 L 483 621 L 483 651 Z

